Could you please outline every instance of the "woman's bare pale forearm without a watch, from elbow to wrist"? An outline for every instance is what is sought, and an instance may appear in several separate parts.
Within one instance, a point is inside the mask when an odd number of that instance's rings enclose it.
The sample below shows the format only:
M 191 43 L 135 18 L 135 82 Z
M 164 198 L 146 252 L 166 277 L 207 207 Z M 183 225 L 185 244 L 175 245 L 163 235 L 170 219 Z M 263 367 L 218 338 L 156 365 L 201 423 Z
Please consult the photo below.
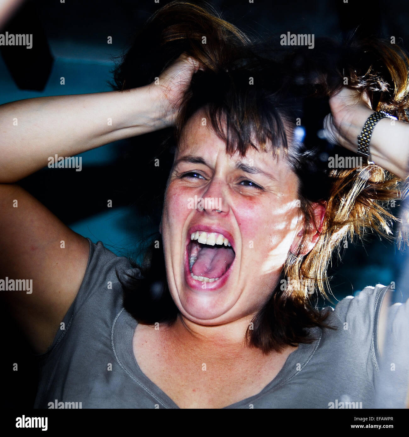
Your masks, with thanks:
M 0 183 L 39 170 L 49 156 L 73 156 L 164 128 L 154 87 L 53 97 L 0 106 Z

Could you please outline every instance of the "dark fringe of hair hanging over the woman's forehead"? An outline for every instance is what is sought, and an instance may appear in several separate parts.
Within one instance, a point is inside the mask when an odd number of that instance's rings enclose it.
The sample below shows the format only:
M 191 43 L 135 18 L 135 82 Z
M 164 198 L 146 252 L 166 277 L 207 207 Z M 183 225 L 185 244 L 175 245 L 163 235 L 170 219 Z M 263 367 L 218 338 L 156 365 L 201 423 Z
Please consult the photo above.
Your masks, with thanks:
M 287 153 L 289 131 L 286 125 L 291 123 L 288 117 L 280 114 L 276 108 L 279 104 L 273 101 L 271 94 L 252 89 L 248 85 L 248 75 L 243 87 L 237 80 L 227 80 L 226 72 L 201 76 L 201 80 L 192 85 L 193 89 L 187 94 L 178 115 L 177 143 L 189 119 L 202 110 L 205 114 L 202 125 L 210 125 L 213 132 L 226 142 L 226 153 L 245 156 L 251 147 L 258 152 L 270 152 L 273 156 Z

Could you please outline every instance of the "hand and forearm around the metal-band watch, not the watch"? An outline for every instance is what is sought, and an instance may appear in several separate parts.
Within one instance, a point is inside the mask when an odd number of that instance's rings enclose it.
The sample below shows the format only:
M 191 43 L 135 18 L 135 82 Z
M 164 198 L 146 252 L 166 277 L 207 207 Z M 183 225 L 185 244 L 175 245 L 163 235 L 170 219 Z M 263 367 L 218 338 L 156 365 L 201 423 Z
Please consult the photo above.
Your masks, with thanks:
M 374 112 L 366 93 L 343 87 L 329 99 L 331 113 L 324 118 L 324 135 L 328 142 L 357 153 L 358 135 Z M 383 118 L 371 136 L 372 161 L 401 179 L 409 174 L 409 124 Z M 363 162 L 365 165 L 366 163 Z

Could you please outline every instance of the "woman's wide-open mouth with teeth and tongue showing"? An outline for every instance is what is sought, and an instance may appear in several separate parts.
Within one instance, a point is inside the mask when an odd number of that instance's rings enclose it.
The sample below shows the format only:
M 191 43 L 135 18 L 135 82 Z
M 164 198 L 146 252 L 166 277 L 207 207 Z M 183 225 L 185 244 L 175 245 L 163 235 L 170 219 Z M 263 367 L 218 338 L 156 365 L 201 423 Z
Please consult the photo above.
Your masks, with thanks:
M 218 232 L 196 231 L 187 247 L 190 274 L 201 282 L 215 282 L 230 268 L 236 257 L 229 240 Z

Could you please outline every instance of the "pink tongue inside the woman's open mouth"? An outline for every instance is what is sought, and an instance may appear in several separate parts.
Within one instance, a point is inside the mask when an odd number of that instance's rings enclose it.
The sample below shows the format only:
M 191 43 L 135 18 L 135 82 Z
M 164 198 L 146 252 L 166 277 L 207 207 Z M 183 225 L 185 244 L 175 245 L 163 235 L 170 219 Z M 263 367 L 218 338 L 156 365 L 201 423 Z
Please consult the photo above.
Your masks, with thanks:
M 234 260 L 234 250 L 231 247 L 203 247 L 195 264 L 192 266 L 192 273 L 196 276 L 216 278 L 223 276 Z

